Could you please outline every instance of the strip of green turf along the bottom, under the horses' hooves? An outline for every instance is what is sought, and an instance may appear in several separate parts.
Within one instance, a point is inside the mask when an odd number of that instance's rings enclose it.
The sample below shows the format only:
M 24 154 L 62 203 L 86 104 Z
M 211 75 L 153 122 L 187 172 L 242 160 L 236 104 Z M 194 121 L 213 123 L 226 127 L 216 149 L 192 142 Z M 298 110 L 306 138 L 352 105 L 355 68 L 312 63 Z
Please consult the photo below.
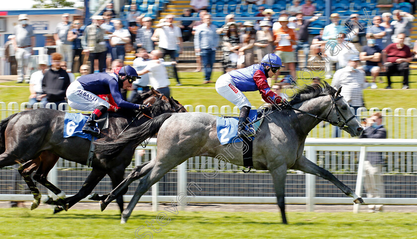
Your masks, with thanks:
M 165 226 L 156 223 L 159 212 L 134 211 L 121 225 L 118 211 L 70 210 L 52 215 L 51 210 L 0 209 L 1 238 L 76 239 L 217 239 L 217 238 L 417 238 L 416 213 L 300 213 L 289 212 L 282 225 L 278 212 L 178 212 L 164 211 Z M 147 228 L 153 221 L 155 231 Z M 141 228 L 143 227 L 143 228 Z M 138 230 L 138 231 L 137 231 Z M 142 237 L 140 237 L 143 235 Z

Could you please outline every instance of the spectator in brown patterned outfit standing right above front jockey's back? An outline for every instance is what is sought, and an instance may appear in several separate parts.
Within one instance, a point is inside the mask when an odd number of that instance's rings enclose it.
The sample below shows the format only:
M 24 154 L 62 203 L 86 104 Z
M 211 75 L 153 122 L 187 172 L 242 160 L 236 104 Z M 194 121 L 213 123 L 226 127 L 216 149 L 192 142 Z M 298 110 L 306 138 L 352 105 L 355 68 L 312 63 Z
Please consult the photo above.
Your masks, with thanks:
M 245 61 L 238 68 L 249 67 L 255 64 L 254 44 L 256 42 L 256 30 L 253 28 L 254 24 L 251 21 L 245 21 L 245 32 L 242 36 L 242 47 L 239 48 L 239 56 L 244 56 Z

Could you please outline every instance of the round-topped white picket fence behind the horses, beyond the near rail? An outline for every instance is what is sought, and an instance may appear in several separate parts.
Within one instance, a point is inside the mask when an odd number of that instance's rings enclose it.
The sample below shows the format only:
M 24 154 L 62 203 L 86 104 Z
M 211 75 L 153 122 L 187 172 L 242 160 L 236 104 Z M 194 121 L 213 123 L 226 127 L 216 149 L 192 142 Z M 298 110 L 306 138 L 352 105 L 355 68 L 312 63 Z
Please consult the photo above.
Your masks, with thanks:
M 22 111 L 26 109 L 28 103 L 24 102 L 20 105 L 17 102 L 4 103 L 0 102 L 0 120 L 6 118 L 8 115 Z M 34 105 L 34 108 L 42 108 L 42 104 L 37 103 Z M 69 110 L 70 107 L 68 104 L 61 104 L 57 107 L 55 103 L 49 103 L 46 105 L 48 108 L 54 109 L 67 109 L 68 112 L 81 112 L 78 110 Z M 206 112 L 213 115 L 238 115 L 239 109 L 237 106 L 233 108 L 228 105 L 217 106 L 210 105 L 206 107 L 205 105 L 197 105 L 193 107 L 192 105 L 185 105 L 185 108 L 189 112 Z M 253 107 L 253 109 L 255 109 Z M 382 110 L 378 108 L 359 108 L 356 112 L 358 118 L 366 118 L 372 113 L 380 111 L 383 115 L 383 124 L 387 129 L 387 137 L 389 139 L 417 139 L 417 109 L 410 108 L 383 108 Z M 333 138 L 334 133 L 337 130 L 337 127 L 321 122 L 318 124 L 309 134 L 309 138 Z M 341 138 L 350 138 L 350 135 L 342 131 Z

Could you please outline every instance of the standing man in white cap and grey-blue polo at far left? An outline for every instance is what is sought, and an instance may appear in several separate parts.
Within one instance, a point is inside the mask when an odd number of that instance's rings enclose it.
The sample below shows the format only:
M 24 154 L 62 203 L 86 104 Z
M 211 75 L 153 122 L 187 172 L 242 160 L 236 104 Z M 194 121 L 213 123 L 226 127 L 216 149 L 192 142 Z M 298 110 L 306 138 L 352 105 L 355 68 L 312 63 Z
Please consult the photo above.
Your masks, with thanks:
M 14 26 L 13 46 L 15 58 L 17 61 L 17 83 L 28 81 L 29 74 L 28 64 L 30 56 L 33 53 L 32 47 L 35 46 L 35 35 L 33 34 L 32 25 L 29 25 L 27 14 L 20 14 L 19 24 Z

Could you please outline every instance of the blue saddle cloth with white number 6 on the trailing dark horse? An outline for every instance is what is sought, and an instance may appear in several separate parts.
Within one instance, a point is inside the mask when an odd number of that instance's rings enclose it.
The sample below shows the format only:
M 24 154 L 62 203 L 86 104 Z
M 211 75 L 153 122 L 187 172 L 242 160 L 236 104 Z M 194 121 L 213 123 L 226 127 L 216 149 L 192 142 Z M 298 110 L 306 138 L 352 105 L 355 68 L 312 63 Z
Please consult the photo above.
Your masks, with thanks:
M 80 137 L 91 141 L 91 135 L 82 132 L 82 127 L 87 122 L 88 116 L 81 113 L 65 113 L 64 138 Z

